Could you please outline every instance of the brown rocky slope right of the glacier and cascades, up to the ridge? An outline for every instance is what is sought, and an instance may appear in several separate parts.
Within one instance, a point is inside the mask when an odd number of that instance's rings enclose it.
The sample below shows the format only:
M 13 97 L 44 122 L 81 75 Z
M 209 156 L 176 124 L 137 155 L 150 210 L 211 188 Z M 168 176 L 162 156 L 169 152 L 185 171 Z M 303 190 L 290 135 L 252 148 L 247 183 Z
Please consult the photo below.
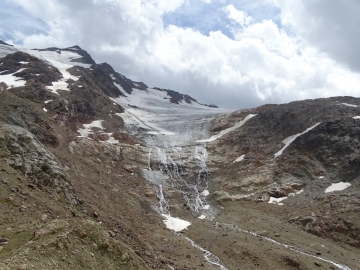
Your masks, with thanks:
M 306 100 L 216 119 L 214 131 L 231 125 L 234 119 L 257 114 L 210 145 L 227 163 L 226 176 L 220 172 L 223 184 L 217 191 L 218 199 L 267 202 L 270 197 L 287 197 L 303 190 L 282 201 L 297 209 L 288 221 L 320 237 L 360 247 L 360 223 L 356 218 L 360 211 L 359 102 L 352 97 Z M 314 128 L 276 155 L 284 147 L 285 138 L 309 127 Z M 243 159 L 234 162 L 240 156 Z M 324 192 L 339 182 L 351 187 Z

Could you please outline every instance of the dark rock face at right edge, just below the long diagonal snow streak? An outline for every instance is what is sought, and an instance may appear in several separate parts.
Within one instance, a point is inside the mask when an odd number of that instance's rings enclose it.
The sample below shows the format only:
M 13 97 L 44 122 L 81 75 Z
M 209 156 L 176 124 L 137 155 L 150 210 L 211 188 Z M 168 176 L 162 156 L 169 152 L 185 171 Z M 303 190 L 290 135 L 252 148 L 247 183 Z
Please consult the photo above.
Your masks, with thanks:
M 351 183 L 360 176 L 359 140 L 357 120 L 351 117 L 329 120 L 318 125 L 316 132 L 295 140 L 278 164 L 293 175 L 312 179 L 326 174 L 330 182 Z M 301 153 L 306 153 L 311 161 L 304 162 L 299 158 Z

